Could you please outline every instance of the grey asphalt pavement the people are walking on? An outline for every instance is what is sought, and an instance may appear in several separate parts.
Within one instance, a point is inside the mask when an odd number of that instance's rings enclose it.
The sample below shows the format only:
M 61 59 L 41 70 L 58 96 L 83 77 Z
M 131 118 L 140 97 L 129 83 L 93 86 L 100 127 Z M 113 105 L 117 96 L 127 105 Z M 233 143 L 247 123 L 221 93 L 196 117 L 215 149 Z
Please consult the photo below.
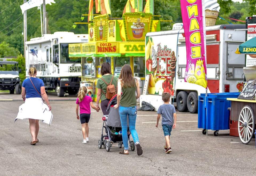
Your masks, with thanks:
M 0 101 L 0 175 L 256 175 L 255 139 L 244 145 L 228 130 L 217 137 L 213 131 L 203 135 L 197 114 L 177 112 L 173 152 L 165 154 L 161 124 L 155 127 L 157 113 L 138 111 L 136 129 L 143 149 L 138 156 L 136 150 L 119 154 L 116 144 L 110 152 L 98 148 L 102 112 L 93 109 L 90 142 L 82 144 L 74 100 L 50 102 L 52 124 L 40 122 L 39 143 L 31 146 L 28 120 L 13 122 L 21 104 Z

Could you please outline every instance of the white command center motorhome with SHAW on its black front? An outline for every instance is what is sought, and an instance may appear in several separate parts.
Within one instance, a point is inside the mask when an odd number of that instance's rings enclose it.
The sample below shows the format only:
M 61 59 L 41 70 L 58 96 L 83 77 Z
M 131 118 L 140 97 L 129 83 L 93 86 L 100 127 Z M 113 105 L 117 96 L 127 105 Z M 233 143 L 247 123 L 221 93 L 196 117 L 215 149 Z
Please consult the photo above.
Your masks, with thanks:
M 88 42 L 88 34 L 54 32 L 26 42 L 26 77 L 29 68 L 37 68 L 46 91 L 56 90 L 59 97 L 65 92 L 77 93 L 81 81 L 81 58 L 69 58 L 69 43 Z M 72 48 L 73 49 L 73 48 Z

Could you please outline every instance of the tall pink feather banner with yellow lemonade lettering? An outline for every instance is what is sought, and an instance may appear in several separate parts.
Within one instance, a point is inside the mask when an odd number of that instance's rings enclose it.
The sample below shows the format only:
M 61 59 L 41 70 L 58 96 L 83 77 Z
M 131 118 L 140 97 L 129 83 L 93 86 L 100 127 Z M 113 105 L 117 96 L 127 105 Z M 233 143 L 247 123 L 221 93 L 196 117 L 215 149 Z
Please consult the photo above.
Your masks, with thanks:
M 207 88 L 204 4 L 204 0 L 181 0 L 187 51 L 185 81 Z

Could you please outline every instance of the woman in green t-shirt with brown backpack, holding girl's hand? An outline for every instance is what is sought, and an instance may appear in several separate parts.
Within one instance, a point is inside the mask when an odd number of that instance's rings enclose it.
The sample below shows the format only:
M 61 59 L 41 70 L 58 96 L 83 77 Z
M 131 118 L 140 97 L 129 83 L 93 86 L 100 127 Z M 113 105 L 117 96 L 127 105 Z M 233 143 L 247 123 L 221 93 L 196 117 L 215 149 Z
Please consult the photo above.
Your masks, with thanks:
M 101 65 L 101 75 L 102 79 L 104 79 L 107 83 L 110 83 L 113 75 L 111 73 L 111 65 L 108 62 L 104 62 Z M 105 95 L 107 92 L 107 84 L 101 78 L 98 79 L 96 85 L 98 88 L 96 107 L 99 107 L 99 100 L 101 100 L 101 110 L 103 115 L 108 115 L 109 113 L 107 112 L 107 105 L 109 104 L 109 99 L 107 99 Z M 117 77 L 114 76 L 112 84 L 115 85 L 115 87 L 117 87 L 117 80 Z

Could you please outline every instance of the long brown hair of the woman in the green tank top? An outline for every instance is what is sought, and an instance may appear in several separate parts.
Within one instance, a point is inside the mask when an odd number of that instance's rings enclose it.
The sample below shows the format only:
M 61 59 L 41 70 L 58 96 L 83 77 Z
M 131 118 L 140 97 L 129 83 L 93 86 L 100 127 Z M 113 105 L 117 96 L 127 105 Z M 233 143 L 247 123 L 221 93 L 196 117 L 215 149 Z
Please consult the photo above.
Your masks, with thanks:
M 131 71 L 131 66 L 129 64 L 125 64 L 119 75 L 119 79 L 122 79 L 123 87 L 136 87 L 136 83 L 133 78 L 133 72 Z

